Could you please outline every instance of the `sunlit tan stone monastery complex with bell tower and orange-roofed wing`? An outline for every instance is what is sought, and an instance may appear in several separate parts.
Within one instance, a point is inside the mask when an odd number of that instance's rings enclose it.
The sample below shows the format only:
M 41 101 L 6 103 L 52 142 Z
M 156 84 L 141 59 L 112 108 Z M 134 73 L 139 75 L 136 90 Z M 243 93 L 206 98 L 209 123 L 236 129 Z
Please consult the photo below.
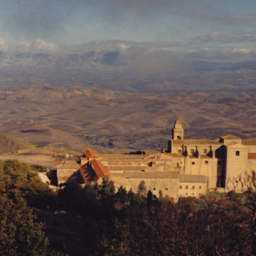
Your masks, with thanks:
M 57 166 L 58 185 L 69 178 L 82 183 L 109 176 L 116 188 L 137 193 L 139 183 L 159 197 L 200 197 L 208 190 L 232 190 L 238 176 L 256 170 L 256 140 L 232 134 L 215 140 L 184 139 L 181 121 L 176 119 L 168 149 L 151 155 L 95 154 L 87 149 L 74 161 Z

